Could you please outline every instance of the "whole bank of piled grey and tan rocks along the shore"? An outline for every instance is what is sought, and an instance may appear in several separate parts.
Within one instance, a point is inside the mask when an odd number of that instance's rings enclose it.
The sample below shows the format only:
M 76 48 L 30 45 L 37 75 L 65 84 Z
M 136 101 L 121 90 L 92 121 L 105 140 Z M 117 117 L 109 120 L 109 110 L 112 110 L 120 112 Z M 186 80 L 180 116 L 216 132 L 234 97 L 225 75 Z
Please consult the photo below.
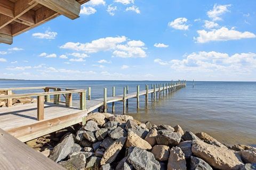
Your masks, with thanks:
M 128 115 L 92 113 L 27 142 L 67 169 L 256 169 L 256 148 L 228 146 L 179 125 L 151 125 Z

